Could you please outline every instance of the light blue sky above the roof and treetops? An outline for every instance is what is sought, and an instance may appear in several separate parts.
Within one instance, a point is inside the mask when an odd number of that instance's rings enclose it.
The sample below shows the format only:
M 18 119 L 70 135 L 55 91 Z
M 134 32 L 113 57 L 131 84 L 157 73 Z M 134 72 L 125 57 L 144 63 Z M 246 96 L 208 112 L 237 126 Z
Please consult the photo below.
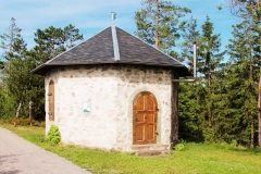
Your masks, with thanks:
M 198 20 L 198 26 L 210 16 L 214 33 L 221 34 L 223 48 L 232 38 L 232 25 L 238 22 L 226 8 L 226 0 L 172 0 L 174 4 L 192 10 L 187 17 Z M 219 11 L 217 5 L 223 4 Z M 72 24 L 87 39 L 111 25 L 111 12 L 117 13 L 114 24 L 134 34 L 134 12 L 141 8 L 141 0 L 3 0 L 0 5 L 0 34 L 7 33 L 11 17 L 22 28 L 22 37 L 30 49 L 37 28 L 64 27 Z

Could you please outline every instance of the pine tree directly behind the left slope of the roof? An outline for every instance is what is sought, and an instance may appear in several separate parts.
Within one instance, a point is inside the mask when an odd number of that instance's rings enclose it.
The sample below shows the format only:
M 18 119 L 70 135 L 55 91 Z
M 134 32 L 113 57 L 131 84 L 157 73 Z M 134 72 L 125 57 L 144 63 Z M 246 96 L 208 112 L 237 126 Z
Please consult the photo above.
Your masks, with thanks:
M 28 60 L 30 70 L 36 69 L 41 63 L 54 58 L 66 49 L 73 47 L 77 41 L 83 39 L 78 28 L 67 25 L 63 29 L 50 26 L 46 29 L 37 29 L 35 33 L 36 46 L 29 50 Z M 30 76 L 30 90 L 28 91 L 29 100 L 34 102 L 33 114 L 36 119 L 45 117 L 45 82 L 42 76 Z

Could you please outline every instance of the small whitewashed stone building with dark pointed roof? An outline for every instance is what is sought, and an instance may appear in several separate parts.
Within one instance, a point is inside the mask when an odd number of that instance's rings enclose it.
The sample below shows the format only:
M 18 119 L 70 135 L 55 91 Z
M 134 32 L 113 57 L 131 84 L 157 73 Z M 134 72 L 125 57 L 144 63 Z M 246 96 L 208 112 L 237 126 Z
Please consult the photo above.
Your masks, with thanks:
M 46 132 L 62 142 L 138 152 L 178 141 L 177 60 L 112 25 L 44 63 Z

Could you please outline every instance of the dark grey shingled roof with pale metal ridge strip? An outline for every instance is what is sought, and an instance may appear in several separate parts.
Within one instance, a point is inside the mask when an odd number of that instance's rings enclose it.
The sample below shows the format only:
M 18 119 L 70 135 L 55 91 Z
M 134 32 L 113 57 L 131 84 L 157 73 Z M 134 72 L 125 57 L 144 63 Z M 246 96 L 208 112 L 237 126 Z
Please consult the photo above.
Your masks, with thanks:
M 174 67 L 179 76 L 188 75 L 187 67 L 181 62 L 114 25 L 32 72 L 45 75 L 54 66 L 109 63 L 167 66 Z

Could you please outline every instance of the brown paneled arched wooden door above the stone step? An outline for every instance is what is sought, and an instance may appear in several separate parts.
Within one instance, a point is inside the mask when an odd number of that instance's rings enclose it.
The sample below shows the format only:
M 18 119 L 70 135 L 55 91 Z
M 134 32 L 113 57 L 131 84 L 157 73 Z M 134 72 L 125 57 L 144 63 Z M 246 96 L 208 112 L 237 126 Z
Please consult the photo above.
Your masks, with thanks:
M 158 103 L 153 94 L 141 91 L 133 103 L 133 144 L 157 142 Z

